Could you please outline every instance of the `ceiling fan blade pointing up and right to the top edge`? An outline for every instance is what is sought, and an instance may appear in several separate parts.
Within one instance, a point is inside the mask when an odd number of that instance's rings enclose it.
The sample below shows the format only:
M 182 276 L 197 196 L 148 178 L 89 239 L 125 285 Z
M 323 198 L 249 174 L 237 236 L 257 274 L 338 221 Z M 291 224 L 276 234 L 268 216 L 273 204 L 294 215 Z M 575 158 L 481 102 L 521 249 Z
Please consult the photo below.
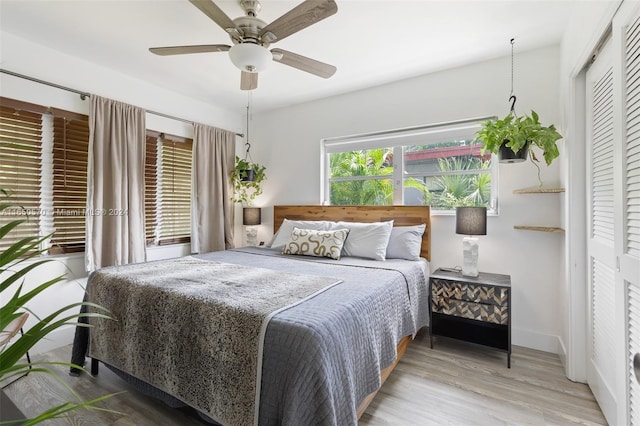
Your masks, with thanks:
M 337 11 L 338 5 L 334 0 L 306 0 L 264 27 L 260 37 L 263 41 L 275 43 Z

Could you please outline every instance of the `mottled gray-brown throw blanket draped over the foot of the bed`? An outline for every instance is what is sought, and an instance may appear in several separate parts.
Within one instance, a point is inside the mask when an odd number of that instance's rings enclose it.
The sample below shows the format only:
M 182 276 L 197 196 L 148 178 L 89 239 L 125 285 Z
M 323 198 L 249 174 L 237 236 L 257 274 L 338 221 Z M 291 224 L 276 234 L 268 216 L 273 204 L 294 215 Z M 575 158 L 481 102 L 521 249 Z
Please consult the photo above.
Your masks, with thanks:
M 91 355 L 222 424 L 252 424 L 270 318 L 338 283 L 191 256 L 104 268 L 89 298 L 116 320 L 90 321 Z

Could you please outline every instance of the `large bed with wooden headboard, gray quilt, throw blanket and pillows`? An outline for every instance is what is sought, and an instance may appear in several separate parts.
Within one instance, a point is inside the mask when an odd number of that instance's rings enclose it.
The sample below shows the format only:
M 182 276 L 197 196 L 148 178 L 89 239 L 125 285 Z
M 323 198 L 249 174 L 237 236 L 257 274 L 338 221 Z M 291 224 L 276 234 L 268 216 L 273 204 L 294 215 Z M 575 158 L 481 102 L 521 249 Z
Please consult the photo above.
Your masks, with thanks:
M 87 353 L 93 373 L 102 362 L 225 425 L 356 424 L 428 323 L 429 208 L 275 206 L 274 233 L 267 248 L 96 271 L 87 300 L 117 321 L 79 327 L 72 362 Z M 344 245 L 309 255 L 319 236 Z

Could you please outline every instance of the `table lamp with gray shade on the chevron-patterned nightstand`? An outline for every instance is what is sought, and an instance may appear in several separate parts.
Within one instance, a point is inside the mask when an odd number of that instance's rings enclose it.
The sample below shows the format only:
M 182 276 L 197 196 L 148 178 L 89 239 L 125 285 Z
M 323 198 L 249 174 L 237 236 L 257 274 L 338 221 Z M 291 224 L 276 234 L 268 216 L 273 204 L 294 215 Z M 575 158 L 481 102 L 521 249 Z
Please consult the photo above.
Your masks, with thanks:
M 466 235 L 462 240 L 462 275 L 477 277 L 478 239 L 471 235 L 487 235 L 487 208 L 456 208 L 456 234 Z

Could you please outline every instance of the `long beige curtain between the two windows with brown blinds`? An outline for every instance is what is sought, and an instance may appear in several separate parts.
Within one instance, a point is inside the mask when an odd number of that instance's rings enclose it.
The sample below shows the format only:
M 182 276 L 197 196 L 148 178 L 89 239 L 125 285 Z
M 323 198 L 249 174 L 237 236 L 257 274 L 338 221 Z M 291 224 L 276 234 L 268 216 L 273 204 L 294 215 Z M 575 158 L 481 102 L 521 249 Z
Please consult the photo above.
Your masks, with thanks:
M 144 262 L 145 112 L 91 96 L 87 271 Z

